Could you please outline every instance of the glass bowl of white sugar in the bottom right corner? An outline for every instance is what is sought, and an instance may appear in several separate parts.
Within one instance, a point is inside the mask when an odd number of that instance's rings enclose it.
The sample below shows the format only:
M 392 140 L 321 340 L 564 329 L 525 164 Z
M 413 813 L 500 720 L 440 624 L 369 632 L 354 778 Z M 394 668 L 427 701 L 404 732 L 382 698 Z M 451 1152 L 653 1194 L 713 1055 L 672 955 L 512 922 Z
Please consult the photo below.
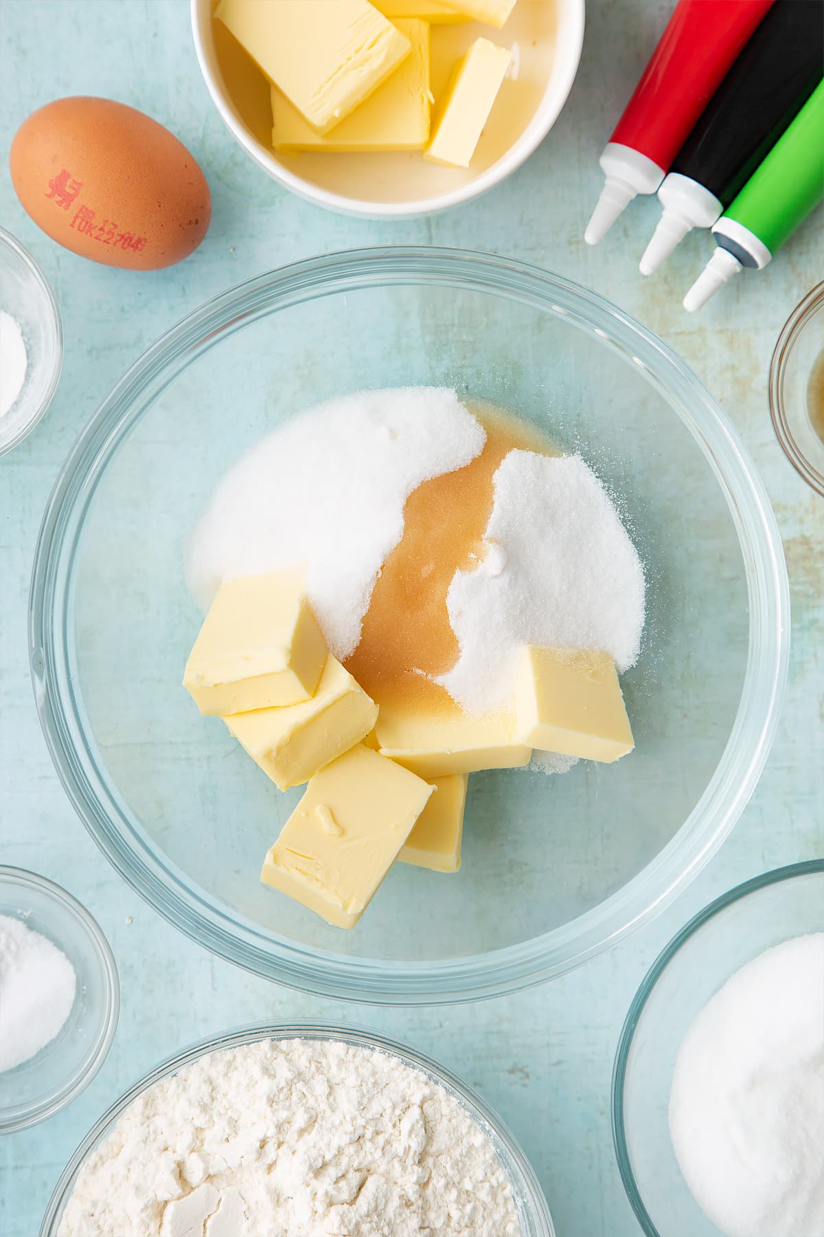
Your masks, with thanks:
M 624 1023 L 613 1134 L 647 1237 L 824 1233 L 824 860 L 667 945 Z

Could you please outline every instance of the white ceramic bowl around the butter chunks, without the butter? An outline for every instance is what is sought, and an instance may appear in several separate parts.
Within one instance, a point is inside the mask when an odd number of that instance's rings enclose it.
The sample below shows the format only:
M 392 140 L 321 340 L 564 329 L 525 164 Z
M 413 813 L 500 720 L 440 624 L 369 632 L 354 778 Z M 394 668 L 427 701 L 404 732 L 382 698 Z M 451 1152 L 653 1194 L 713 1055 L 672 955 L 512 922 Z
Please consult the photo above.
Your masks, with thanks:
M 478 35 L 513 46 L 520 68 L 514 115 L 493 111 L 473 167 L 439 167 L 418 153 L 277 153 L 269 143 L 269 89 L 250 72 L 246 53 L 211 14 L 215 0 L 190 0 L 195 51 L 209 93 L 227 129 L 264 172 L 309 202 L 366 219 L 414 219 L 469 202 L 508 177 L 544 141 L 578 69 L 584 0 L 519 0 L 502 31 L 468 22 L 437 27 L 460 56 Z M 446 33 L 444 33 L 446 31 Z M 537 33 L 536 33 L 537 32 Z M 432 80 L 436 87 L 435 74 Z

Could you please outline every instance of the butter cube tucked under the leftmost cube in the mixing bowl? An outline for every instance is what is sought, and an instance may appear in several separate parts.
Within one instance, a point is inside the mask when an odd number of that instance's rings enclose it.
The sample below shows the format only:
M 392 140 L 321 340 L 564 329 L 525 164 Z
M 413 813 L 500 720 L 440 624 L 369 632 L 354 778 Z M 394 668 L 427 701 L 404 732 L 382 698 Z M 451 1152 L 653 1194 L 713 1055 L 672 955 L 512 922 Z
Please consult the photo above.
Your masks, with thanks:
M 330 653 L 310 700 L 224 717 L 280 790 L 300 785 L 368 735 L 378 706 Z

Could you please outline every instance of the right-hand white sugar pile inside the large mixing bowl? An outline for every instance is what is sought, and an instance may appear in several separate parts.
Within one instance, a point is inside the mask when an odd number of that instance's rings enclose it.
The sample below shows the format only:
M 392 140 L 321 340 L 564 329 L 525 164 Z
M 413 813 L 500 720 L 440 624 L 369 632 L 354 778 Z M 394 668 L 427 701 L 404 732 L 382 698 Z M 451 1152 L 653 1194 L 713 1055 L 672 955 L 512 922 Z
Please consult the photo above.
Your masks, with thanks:
M 510 452 L 494 475 L 486 541 L 447 595 L 461 656 L 441 679 L 467 710 L 507 708 L 524 644 L 637 658 L 644 569 L 600 481 L 578 455 Z

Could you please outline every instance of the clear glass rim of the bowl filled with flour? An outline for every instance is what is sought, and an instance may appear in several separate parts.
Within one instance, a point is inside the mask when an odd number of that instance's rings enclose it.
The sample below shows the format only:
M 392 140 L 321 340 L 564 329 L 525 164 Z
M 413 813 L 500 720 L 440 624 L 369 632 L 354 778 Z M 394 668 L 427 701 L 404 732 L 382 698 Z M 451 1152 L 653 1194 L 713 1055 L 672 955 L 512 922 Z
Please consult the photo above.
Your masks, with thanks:
M 494 1108 L 490 1107 L 476 1091 L 463 1082 L 457 1075 L 444 1065 L 439 1065 L 424 1053 L 400 1044 L 387 1035 L 367 1030 L 361 1027 L 345 1027 L 334 1022 L 306 1022 L 306 1023 L 248 1023 L 231 1030 L 221 1032 L 217 1035 L 208 1035 L 199 1039 L 178 1053 L 164 1058 L 159 1064 L 146 1072 L 137 1082 L 133 1082 L 117 1100 L 111 1103 L 101 1117 L 95 1122 L 83 1141 L 78 1144 L 68 1164 L 63 1169 L 61 1178 L 52 1191 L 52 1196 L 46 1209 L 46 1215 L 40 1230 L 40 1237 L 54 1237 L 53 1225 L 58 1209 L 68 1201 L 68 1190 L 74 1183 L 74 1178 L 82 1169 L 86 1157 L 105 1136 L 114 1122 L 122 1116 L 125 1110 L 149 1086 L 161 1079 L 177 1074 L 182 1068 L 191 1061 L 205 1056 L 209 1053 L 222 1051 L 229 1048 L 240 1048 L 245 1044 L 258 1043 L 264 1039 L 321 1039 L 342 1040 L 359 1048 L 371 1048 L 392 1056 L 398 1056 L 405 1065 L 421 1070 L 435 1082 L 446 1086 L 463 1105 L 469 1116 L 481 1127 L 488 1126 L 507 1153 L 510 1155 L 515 1168 L 521 1175 L 523 1196 L 529 1207 L 530 1218 L 537 1228 L 537 1237 L 555 1237 L 552 1216 L 546 1201 L 544 1190 L 537 1180 L 535 1169 L 521 1150 L 514 1134 L 500 1119 Z M 509 1174 L 508 1174 L 509 1175 Z M 511 1181 L 511 1179 L 510 1179 Z M 514 1183 L 513 1183 L 514 1184 Z

